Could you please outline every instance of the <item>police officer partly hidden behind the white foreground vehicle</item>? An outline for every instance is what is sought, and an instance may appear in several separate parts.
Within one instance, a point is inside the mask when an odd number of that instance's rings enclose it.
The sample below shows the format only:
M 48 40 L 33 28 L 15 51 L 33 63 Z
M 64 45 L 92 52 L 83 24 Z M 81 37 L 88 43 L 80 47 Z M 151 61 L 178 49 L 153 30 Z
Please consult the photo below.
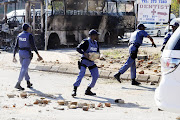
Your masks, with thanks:
M 166 46 L 166 43 L 168 42 L 168 40 L 170 39 L 170 37 L 172 36 L 172 34 L 176 31 L 176 29 L 179 27 L 179 23 L 175 22 L 174 24 L 170 25 L 172 26 L 172 32 L 168 32 L 165 37 L 164 37 L 164 42 L 163 42 L 163 45 L 162 45 L 162 48 L 161 48 L 161 51 L 163 52 L 165 46 Z

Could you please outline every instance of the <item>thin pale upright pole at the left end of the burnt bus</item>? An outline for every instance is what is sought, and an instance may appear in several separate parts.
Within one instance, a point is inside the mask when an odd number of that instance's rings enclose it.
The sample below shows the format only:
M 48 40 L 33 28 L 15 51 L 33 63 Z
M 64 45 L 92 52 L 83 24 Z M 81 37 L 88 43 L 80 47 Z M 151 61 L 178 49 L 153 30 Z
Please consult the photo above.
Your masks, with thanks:
M 47 50 L 47 18 L 48 18 L 48 0 L 46 0 L 46 12 L 45 12 L 45 50 Z

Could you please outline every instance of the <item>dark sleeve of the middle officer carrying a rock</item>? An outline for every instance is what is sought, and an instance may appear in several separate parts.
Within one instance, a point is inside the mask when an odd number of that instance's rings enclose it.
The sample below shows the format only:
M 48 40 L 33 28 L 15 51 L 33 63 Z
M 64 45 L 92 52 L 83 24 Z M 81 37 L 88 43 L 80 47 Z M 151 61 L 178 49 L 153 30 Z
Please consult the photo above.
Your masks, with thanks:
M 84 52 L 88 49 L 89 42 L 87 40 L 83 40 L 78 46 L 77 46 L 77 52 L 80 54 L 84 54 Z

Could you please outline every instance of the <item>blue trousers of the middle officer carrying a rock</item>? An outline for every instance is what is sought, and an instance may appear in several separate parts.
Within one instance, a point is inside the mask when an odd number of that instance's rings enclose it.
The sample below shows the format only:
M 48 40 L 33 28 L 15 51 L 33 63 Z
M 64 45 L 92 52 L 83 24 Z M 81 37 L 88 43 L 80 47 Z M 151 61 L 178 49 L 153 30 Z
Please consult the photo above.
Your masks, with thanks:
M 82 60 L 82 64 L 84 64 L 84 65 L 86 65 L 87 67 L 89 67 L 89 66 L 93 66 L 93 65 L 94 65 L 94 62 L 91 62 L 91 61 L 88 61 L 88 60 L 85 60 L 85 59 L 84 59 L 84 60 Z M 88 85 L 88 87 L 91 87 L 91 88 L 92 88 L 92 87 L 95 86 L 96 81 L 97 81 L 97 79 L 99 78 L 99 71 L 98 71 L 98 68 L 95 67 L 95 68 L 93 68 L 93 69 L 90 69 L 90 72 L 91 72 L 91 76 L 92 76 L 92 81 L 91 81 L 91 83 Z M 86 67 L 81 66 L 79 75 L 78 75 L 78 77 L 77 77 L 77 79 L 76 79 L 76 82 L 74 83 L 74 86 L 79 87 L 79 85 L 81 84 L 81 81 L 82 81 L 85 73 L 86 73 Z

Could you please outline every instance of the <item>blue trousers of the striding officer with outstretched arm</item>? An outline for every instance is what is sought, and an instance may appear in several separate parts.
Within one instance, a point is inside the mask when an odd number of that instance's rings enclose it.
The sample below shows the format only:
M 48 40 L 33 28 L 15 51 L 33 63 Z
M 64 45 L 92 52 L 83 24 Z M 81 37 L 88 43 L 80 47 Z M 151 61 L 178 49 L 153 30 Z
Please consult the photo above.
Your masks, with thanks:
M 131 79 L 135 79 L 136 78 L 136 61 L 135 58 L 133 59 L 131 57 L 131 53 L 134 51 L 137 51 L 138 48 L 136 48 L 135 46 L 131 45 L 129 47 L 129 53 L 130 56 L 128 58 L 128 60 L 126 61 L 126 63 L 123 65 L 123 67 L 120 68 L 119 72 L 121 74 L 123 74 L 124 72 L 126 72 L 128 70 L 129 67 L 131 67 Z

